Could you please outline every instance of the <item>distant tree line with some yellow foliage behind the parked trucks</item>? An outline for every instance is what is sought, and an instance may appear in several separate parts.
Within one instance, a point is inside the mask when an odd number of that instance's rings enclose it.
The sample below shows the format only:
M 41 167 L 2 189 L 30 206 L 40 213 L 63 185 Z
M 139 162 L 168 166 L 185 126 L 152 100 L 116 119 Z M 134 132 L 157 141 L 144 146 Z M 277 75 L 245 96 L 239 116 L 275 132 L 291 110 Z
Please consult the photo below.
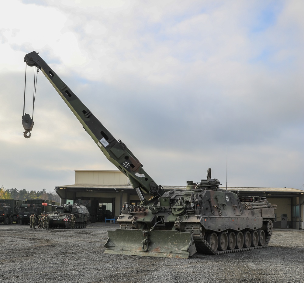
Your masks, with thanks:
M 47 192 L 46 189 L 42 189 L 41 191 L 31 190 L 29 192 L 26 189 L 5 189 L 3 186 L 0 188 L 0 199 L 48 199 L 60 202 L 60 197 L 57 195 L 57 193 Z

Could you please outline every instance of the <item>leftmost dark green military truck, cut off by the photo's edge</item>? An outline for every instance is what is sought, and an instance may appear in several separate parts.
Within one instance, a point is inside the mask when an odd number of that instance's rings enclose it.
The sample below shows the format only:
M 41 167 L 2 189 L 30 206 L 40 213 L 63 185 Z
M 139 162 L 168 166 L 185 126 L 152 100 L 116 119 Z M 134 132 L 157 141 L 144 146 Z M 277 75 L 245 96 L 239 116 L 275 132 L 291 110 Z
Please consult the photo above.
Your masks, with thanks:
M 0 199 L 0 223 L 12 224 L 19 223 L 18 207 L 24 203 L 24 200 Z

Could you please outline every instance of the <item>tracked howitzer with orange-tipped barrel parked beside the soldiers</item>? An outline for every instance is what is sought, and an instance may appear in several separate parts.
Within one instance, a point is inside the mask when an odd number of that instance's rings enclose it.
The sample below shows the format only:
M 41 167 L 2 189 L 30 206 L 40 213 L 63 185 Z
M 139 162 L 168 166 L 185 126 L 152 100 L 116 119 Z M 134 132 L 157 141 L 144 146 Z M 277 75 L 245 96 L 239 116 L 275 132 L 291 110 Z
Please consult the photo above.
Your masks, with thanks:
M 50 228 L 67 228 L 71 229 L 72 214 L 76 217 L 75 228 L 87 227 L 90 219 L 88 209 L 79 203 L 54 205 L 43 203 L 43 206 L 53 206 L 55 211 L 47 213 L 50 217 Z

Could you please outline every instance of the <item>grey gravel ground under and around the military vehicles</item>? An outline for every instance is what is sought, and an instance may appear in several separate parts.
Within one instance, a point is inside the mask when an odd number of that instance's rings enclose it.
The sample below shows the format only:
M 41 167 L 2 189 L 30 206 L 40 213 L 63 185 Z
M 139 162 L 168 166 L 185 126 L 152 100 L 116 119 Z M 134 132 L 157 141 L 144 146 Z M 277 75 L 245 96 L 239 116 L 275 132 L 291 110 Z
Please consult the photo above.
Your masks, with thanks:
M 104 254 L 113 223 L 85 229 L 0 224 L 0 282 L 304 282 L 304 231 L 275 229 L 267 248 L 189 259 Z

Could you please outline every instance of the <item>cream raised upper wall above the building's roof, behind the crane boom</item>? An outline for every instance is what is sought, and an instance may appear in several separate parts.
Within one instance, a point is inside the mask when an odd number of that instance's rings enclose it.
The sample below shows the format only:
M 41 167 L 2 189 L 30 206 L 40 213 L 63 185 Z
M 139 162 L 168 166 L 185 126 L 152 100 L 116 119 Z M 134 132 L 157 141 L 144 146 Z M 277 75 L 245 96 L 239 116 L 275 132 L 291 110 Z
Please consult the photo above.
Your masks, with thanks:
M 75 170 L 75 184 L 130 185 L 130 181 L 119 170 Z

